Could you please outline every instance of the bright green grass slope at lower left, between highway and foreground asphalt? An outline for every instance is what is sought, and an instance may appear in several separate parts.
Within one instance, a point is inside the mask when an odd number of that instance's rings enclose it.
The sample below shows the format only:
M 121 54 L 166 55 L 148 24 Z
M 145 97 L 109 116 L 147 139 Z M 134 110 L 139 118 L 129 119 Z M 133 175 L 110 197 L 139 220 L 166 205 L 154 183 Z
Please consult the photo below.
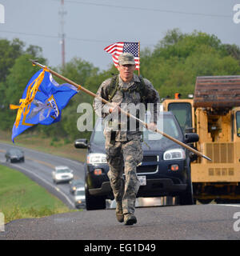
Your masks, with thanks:
M 0 212 L 5 223 L 69 212 L 61 200 L 18 170 L 0 165 Z

